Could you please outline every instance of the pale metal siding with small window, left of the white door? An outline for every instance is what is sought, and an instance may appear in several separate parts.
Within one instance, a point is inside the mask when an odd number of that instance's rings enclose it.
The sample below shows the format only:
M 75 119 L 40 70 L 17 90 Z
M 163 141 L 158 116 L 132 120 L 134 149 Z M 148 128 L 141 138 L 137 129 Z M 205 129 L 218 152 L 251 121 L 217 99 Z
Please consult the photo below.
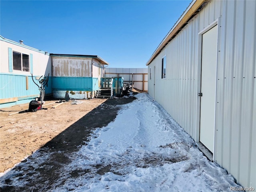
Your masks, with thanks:
M 191 24 L 185 27 L 186 30 L 182 30 L 150 64 L 152 79 L 149 80 L 149 94 L 153 95 L 156 65 L 156 101 L 165 106 L 166 111 L 193 138 L 196 137 L 193 127 L 196 127 L 198 20 L 197 16 L 190 21 Z M 180 46 L 181 44 L 185 46 Z M 161 79 L 160 64 L 165 55 L 166 79 Z M 169 96 L 171 100 L 168 99 Z

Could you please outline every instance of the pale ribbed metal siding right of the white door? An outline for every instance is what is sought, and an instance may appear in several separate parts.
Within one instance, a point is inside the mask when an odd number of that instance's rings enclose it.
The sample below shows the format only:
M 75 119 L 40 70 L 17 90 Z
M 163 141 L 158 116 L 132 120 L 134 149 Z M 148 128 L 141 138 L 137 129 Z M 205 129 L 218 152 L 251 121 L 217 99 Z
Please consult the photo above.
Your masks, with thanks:
M 256 186 L 256 2 L 224 1 L 220 25 L 216 162 Z M 254 118 L 253 118 L 254 117 Z

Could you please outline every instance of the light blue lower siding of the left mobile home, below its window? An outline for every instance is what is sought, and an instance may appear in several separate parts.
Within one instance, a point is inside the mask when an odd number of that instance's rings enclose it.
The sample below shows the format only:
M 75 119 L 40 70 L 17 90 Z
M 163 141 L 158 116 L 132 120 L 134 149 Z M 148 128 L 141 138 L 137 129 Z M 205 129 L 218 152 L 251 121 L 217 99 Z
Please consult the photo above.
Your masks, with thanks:
M 36 78 L 34 77 L 34 80 Z M 35 80 L 38 83 L 38 80 Z M 48 87 L 45 94 L 52 93 L 51 78 L 49 77 Z M 40 85 L 38 83 L 38 85 Z M 0 99 L 18 97 L 18 100 L 26 99 L 32 95 L 40 95 L 38 86 L 32 81 L 32 76 L 28 76 L 28 90 L 26 89 L 26 75 L 0 74 Z

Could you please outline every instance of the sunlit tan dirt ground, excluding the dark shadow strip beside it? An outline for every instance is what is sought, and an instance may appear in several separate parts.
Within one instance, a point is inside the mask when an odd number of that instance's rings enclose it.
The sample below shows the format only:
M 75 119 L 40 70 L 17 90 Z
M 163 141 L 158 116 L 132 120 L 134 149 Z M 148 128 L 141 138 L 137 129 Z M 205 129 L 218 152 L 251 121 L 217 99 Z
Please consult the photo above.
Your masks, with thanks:
M 13 114 L 28 109 L 28 104 L 4 108 L 0 112 L 0 172 L 12 168 L 24 157 L 50 142 L 80 118 L 88 114 L 106 99 L 82 100 L 81 104 L 66 102 L 56 108 L 56 100 L 46 101 L 44 108 L 37 112 Z M 96 116 L 95 116 L 96 117 Z

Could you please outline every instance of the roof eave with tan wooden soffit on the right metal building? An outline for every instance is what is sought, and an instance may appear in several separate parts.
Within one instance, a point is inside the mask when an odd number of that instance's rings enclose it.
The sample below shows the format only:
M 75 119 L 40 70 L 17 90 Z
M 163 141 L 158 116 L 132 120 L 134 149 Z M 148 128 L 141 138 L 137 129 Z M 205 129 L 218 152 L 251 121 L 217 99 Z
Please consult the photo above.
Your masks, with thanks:
M 174 24 L 172 29 L 168 32 L 160 45 L 156 48 L 146 65 L 149 65 L 158 54 L 167 46 L 167 44 L 188 24 L 188 21 L 192 19 L 200 9 L 207 3 L 208 0 L 193 0 L 188 8 L 183 12 L 178 21 Z

